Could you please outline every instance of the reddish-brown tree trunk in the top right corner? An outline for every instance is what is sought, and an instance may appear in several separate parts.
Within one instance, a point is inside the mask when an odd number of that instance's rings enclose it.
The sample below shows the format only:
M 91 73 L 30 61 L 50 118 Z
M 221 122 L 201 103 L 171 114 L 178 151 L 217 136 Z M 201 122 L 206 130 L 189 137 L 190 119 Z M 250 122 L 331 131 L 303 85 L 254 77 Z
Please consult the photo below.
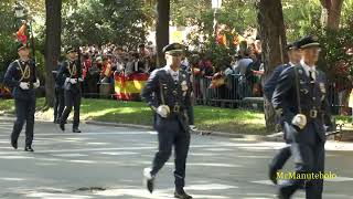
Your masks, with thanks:
M 322 6 L 321 22 L 323 27 L 339 30 L 343 0 L 320 0 Z

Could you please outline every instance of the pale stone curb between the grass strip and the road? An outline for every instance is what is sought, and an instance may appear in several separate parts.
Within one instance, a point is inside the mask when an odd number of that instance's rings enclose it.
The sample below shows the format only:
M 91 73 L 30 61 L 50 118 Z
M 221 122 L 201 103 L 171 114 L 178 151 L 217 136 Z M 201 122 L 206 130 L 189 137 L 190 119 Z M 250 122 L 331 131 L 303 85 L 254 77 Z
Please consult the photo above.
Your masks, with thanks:
M 7 118 L 1 118 L 7 117 Z M 14 117 L 11 114 L 0 114 L 0 121 L 13 122 Z M 52 123 L 46 119 L 36 118 L 36 122 L 41 123 Z M 68 121 L 72 122 L 72 121 Z M 108 123 L 108 122 L 98 122 L 98 121 L 82 121 L 84 124 L 98 125 L 98 126 L 115 126 L 115 127 L 128 127 L 128 128 L 140 128 L 147 130 L 154 130 L 152 126 L 147 125 L 136 125 L 136 124 L 125 124 L 125 123 Z M 234 134 L 225 132 L 212 132 L 212 130 L 191 130 L 192 134 L 202 135 L 202 136 L 217 136 L 225 138 L 237 138 L 245 139 L 250 142 L 284 142 L 282 134 L 271 134 L 271 135 L 244 135 L 244 134 Z

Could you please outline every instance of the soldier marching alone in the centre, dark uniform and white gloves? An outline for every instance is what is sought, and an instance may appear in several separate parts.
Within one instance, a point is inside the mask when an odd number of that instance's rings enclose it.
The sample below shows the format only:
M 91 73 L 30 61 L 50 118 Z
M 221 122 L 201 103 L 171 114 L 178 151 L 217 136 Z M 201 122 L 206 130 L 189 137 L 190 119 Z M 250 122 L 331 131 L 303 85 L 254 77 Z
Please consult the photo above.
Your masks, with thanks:
M 190 145 L 188 108 L 191 106 L 191 82 L 188 74 L 180 70 L 184 46 L 172 43 L 163 48 L 167 65 L 154 70 L 141 92 L 141 97 L 152 108 L 154 128 L 158 132 L 159 151 L 152 168 L 146 168 L 143 176 L 150 192 L 154 188 L 158 171 L 175 149 L 175 198 L 191 199 L 184 191 L 185 165 Z

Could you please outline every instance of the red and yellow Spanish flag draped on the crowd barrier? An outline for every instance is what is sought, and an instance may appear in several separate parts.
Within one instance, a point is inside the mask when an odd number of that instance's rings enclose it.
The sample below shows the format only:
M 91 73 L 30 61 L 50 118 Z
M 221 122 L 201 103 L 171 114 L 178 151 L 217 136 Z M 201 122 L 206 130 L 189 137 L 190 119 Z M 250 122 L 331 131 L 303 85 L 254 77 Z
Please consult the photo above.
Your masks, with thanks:
M 136 73 L 129 76 L 124 74 L 115 75 L 115 94 L 117 100 L 138 101 L 140 93 L 145 87 L 145 83 L 149 75 L 145 73 Z

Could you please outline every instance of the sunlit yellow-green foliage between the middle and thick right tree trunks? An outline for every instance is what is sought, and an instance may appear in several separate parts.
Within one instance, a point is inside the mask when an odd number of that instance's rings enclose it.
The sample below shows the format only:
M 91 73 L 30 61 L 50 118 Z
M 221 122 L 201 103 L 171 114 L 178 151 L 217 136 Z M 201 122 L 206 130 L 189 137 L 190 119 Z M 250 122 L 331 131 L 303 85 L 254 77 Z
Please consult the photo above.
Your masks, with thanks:
M 242 33 L 247 28 L 257 25 L 254 3 L 254 0 L 223 0 L 222 9 L 217 11 L 216 19 L 220 24 L 226 24 Z M 171 20 L 174 25 L 195 25 L 199 28 L 199 32 L 212 35 L 214 10 L 211 0 L 172 0 L 171 8 Z

